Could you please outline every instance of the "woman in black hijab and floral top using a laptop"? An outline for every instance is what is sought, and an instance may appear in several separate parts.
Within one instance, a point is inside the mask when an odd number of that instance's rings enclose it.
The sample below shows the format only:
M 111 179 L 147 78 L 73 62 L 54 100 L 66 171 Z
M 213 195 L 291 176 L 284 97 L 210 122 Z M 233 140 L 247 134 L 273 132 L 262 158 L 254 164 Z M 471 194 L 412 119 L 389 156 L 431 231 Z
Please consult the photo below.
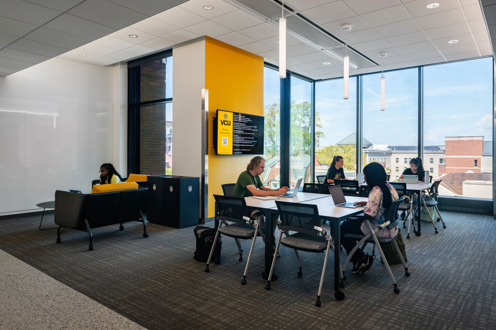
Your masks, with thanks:
M 357 239 L 345 237 L 345 234 L 367 235 L 370 230 L 367 228 L 363 218 L 369 219 L 373 229 L 377 228 L 385 221 L 385 209 L 388 208 L 393 201 L 398 200 L 396 189 L 386 182 L 386 171 L 381 164 L 373 162 L 365 166 L 364 179 L 371 190 L 369 200 L 355 203 L 355 205 L 358 206 L 365 206 L 364 215 L 357 219 L 346 221 L 341 225 L 341 245 L 343 245 L 348 254 L 357 244 Z M 377 237 L 394 237 L 397 233 L 398 227 L 395 227 L 391 230 L 384 228 L 375 235 Z M 353 269 L 351 270 L 352 274 L 356 274 L 360 271 L 367 274 L 374 260 L 374 256 L 370 256 L 368 253 L 365 254 L 361 249 L 357 249 L 351 257 L 351 262 L 353 263 Z

